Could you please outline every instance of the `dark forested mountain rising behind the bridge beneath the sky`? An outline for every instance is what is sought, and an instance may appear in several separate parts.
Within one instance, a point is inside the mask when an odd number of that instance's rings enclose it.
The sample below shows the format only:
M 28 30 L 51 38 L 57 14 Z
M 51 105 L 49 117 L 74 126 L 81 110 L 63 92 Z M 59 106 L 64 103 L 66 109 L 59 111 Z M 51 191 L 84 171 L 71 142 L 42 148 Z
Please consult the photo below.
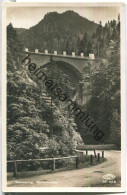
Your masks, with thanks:
M 78 44 L 96 32 L 98 24 L 81 17 L 74 11 L 66 11 L 62 14 L 57 12 L 47 13 L 43 20 L 25 32 L 20 33 L 20 38 L 25 47 L 31 51 L 36 48 L 40 52 L 48 49 L 49 52 L 58 51 L 78 54 Z M 18 32 L 21 32 L 18 30 Z M 82 43 L 81 43 L 82 44 Z M 85 43 L 87 45 L 89 43 Z

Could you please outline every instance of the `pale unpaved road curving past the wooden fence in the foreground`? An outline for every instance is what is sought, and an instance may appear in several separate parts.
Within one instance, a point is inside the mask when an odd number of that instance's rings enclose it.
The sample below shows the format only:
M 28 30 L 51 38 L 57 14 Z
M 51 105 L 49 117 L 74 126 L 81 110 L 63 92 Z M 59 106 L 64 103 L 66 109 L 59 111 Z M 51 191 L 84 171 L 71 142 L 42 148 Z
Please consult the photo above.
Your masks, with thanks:
M 107 161 L 89 168 L 8 181 L 8 187 L 89 187 L 102 183 L 105 174 L 114 174 L 116 177 L 120 177 L 121 152 L 105 151 L 105 158 Z

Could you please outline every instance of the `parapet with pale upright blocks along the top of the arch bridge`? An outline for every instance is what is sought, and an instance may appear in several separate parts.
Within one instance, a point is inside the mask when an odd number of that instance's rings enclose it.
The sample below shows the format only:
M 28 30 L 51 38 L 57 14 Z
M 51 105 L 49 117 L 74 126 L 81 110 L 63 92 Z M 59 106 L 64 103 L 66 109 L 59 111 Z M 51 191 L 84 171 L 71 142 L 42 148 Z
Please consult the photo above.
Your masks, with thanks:
M 94 54 L 89 54 L 89 56 L 84 56 L 84 53 L 80 53 L 80 56 L 75 55 L 75 52 L 72 52 L 72 55 L 67 55 L 66 51 L 63 51 L 63 54 L 58 54 L 57 51 L 54 53 L 49 53 L 48 50 L 45 50 L 45 53 L 41 53 L 38 49 L 35 49 L 35 52 L 29 51 L 28 48 L 25 48 L 25 53 L 37 54 L 37 55 L 45 55 L 45 56 L 58 56 L 64 58 L 75 58 L 75 59 L 84 59 L 84 60 L 95 60 Z

